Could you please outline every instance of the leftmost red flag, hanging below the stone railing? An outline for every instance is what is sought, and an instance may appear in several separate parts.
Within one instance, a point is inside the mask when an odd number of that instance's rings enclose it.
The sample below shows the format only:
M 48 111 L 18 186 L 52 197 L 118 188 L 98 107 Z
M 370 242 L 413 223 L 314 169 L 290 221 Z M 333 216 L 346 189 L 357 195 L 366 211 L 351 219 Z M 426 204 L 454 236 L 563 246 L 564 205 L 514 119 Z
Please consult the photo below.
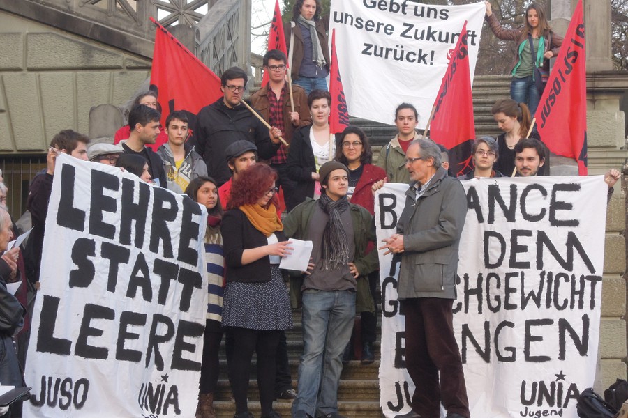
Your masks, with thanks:
M 186 110 L 197 114 L 223 93 L 220 78 L 214 72 L 152 17 L 151 22 L 157 26 L 151 85 L 158 88 L 161 124 L 165 126 L 171 111 Z

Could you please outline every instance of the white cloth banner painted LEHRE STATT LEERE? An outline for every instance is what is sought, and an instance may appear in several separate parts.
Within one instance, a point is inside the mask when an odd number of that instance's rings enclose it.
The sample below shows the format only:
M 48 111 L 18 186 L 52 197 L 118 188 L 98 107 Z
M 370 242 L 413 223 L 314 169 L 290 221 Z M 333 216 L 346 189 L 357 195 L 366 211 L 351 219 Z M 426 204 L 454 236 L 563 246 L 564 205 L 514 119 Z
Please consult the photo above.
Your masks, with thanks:
M 117 167 L 57 157 L 28 417 L 193 417 L 207 215 Z

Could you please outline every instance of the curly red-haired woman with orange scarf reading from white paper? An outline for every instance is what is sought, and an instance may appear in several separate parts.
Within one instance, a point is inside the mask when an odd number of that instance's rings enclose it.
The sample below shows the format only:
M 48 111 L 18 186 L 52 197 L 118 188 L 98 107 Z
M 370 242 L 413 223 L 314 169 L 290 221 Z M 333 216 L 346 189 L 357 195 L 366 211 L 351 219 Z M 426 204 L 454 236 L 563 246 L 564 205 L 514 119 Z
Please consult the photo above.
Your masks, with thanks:
M 276 171 L 266 164 L 242 172 L 233 181 L 230 210 L 220 226 L 227 266 L 223 327 L 228 327 L 234 339 L 228 363 L 234 418 L 252 417 L 246 392 L 253 351 L 262 418 L 279 417 L 272 410 L 276 350 L 281 331 L 292 328 L 290 298 L 279 261 L 292 248 L 277 216 L 276 180 Z

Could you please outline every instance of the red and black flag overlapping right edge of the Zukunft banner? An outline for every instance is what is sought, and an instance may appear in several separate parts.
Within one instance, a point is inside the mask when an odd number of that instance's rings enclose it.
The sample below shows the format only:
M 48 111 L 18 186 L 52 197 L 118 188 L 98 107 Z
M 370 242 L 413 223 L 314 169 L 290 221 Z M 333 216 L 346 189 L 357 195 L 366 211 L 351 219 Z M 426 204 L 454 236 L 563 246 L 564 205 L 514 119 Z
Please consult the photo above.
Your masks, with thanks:
M 431 139 L 449 150 L 449 167 L 456 175 L 471 168 L 470 147 L 463 144 L 475 138 L 467 36 L 465 21 L 442 77 L 430 125 Z

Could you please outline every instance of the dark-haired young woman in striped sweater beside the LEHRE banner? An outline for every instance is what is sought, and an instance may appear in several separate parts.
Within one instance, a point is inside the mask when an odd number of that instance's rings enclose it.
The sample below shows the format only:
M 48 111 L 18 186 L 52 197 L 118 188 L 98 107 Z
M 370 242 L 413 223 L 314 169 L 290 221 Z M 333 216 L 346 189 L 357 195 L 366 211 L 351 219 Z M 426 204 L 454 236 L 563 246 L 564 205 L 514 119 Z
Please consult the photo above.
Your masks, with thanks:
M 207 210 L 205 229 L 205 261 L 207 264 L 207 320 L 203 334 L 203 357 L 201 378 L 196 407 L 197 418 L 216 418 L 214 392 L 218 383 L 218 350 L 223 339 L 223 287 L 224 265 L 223 236 L 220 235 L 220 222 L 223 219 L 223 206 L 220 205 L 218 187 L 211 177 L 198 177 L 190 181 L 186 194 Z

